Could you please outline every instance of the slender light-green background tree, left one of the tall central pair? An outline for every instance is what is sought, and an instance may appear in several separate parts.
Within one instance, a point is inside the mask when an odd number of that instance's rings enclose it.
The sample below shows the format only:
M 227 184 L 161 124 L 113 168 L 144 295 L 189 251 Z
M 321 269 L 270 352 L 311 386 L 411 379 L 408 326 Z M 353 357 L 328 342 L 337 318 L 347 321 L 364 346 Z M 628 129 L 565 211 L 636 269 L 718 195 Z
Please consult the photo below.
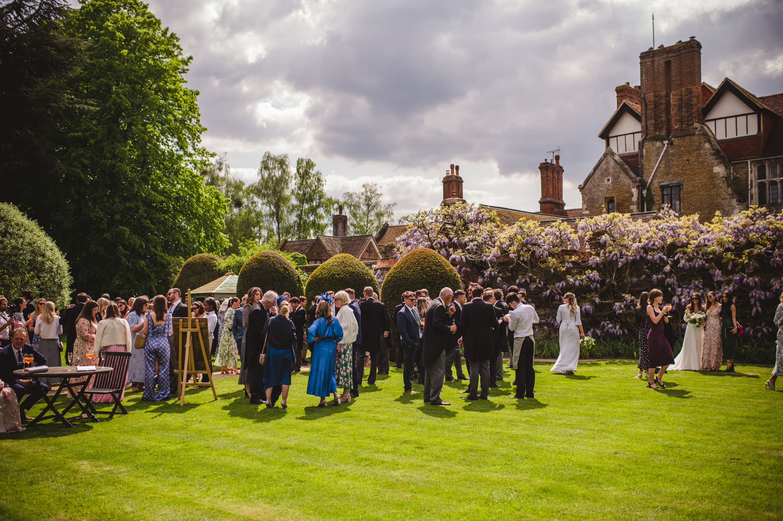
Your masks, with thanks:
M 267 151 L 258 167 L 254 194 L 264 209 L 269 235 L 280 242 L 290 230 L 291 170 L 288 154 Z

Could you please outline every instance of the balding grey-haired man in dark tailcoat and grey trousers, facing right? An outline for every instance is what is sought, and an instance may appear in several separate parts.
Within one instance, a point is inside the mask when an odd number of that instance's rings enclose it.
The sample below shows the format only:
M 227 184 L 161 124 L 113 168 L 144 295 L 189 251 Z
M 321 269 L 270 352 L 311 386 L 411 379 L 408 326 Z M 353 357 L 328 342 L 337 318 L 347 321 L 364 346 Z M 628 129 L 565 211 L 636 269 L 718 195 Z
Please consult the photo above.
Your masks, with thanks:
M 430 405 L 451 405 L 441 399 L 440 393 L 446 373 L 446 349 L 456 334 L 456 325 L 449 324 L 456 309 L 449 306 L 452 298 L 451 288 L 443 288 L 424 313 L 424 403 Z

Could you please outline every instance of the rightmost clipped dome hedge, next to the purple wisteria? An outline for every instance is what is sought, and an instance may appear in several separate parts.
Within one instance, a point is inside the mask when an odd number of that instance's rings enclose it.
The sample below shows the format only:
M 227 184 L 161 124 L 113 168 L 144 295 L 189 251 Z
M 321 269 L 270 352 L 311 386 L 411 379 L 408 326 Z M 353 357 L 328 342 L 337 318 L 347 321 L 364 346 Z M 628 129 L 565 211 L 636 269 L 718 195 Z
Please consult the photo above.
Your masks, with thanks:
M 391 336 L 397 347 L 397 317 L 394 317 L 395 307 L 402 302 L 400 297 L 405 291 L 416 291 L 426 288 L 430 298 L 436 298 L 443 288 L 453 291 L 462 289 L 462 280 L 438 252 L 430 248 L 417 248 L 402 256 L 386 273 L 381 286 L 381 301 L 386 304 L 391 317 Z

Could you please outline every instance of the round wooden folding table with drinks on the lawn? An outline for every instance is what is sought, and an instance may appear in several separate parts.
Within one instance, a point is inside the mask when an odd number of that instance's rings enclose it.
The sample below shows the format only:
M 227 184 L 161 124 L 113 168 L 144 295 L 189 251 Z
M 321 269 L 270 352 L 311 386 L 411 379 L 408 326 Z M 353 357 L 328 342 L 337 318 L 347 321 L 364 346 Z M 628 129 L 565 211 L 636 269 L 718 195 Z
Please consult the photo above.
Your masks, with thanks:
M 96 374 L 110 373 L 111 371 L 114 371 L 114 367 L 98 366 L 90 371 L 77 371 L 76 367 L 68 366 L 49 367 L 49 371 L 43 371 L 41 373 L 31 373 L 25 371 L 24 369 L 17 369 L 16 371 L 13 371 L 13 374 L 16 374 L 16 376 L 19 376 L 20 378 L 34 378 L 36 380 L 38 378 L 62 378 L 60 380 L 60 387 L 57 388 L 56 393 L 54 393 L 54 396 L 51 396 L 51 399 L 48 393 L 44 394 L 43 399 L 46 402 L 46 407 L 44 407 L 44 410 L 41 411 L 41 413 L 38 414 L 38 416 L 36 416 L 33 420 L 31 420 L 31 422 L 28 422 L 27 425 L 33 425 L 35 423 L 42 422 L 44 420 L 50 420 L 52 418 L 63 422 L 69 427 L 74 426 L 71 423 L 73 420 L 78 420 L 81 418 L 90 418 L 93 422 L 99 422 L 99 419 L 96 418 L 95 414 L 90 412 L 89 408 L 85 405 L 85 403 L 83 403 L 82 400 L 85 399 L 85 391 L 87 390 L 87 386 L 89 385 L 90 381 L 92 381 L 92 377 Z M 72 378 L 81 378 L 83 376 L 87 377 L 84 382 L 70 382 Z M 68 403 L 67 407 L 65 407 L 63 411 L 58 411 L 55 407 L 55 402 L 57 401 L 57 398 L 60 397 L 60 393 L 63 392 L 63 389 L 68 389 L 68 394 L 70 394 L 73 400 Z M 74 390 L 76 393 L 74 393 Z M 74 405 L 79 406 L 81 409 L 81 414 L 71 418 L 66 418 L 65 415 L 68 414 L 68 411 L 70 411 Z M 46 412 L 50 409 L 52 414 L 46 416 Z

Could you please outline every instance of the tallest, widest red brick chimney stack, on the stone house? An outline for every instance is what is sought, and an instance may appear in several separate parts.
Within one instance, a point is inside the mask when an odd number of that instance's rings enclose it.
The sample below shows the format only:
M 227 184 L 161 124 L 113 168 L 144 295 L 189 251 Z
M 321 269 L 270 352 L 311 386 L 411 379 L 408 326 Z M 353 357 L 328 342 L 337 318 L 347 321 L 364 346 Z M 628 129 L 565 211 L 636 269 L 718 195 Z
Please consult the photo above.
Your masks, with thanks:
M 644 136 L 687 131 L 702 115 L 702 44 L 695 38 L 639 55 Z

